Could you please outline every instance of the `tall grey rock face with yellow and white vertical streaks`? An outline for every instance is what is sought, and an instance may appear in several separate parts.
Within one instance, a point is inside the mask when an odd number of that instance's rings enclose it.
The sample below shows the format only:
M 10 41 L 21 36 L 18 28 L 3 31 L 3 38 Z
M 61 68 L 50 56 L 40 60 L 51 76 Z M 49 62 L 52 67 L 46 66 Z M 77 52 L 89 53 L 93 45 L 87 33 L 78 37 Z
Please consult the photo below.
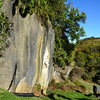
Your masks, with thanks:
M 54 31 L 50 21 L 42 26 L 36 15 L 23 18 L 13 2 L 4 0 L 3 11 L 13 23 L 10 45 L 0 58 L 0 88 L 12 92 L 33 92 L 36 84 L 46 90 L 52 74 Z

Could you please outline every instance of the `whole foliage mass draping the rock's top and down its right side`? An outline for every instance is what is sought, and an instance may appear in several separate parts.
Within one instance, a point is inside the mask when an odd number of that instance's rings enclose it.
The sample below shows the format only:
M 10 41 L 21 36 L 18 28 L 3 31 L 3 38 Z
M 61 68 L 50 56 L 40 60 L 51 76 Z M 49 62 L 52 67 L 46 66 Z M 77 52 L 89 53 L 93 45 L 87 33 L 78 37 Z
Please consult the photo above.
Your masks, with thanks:
M 79 40 L 80 36 L 84 36 L 84 29 L 80 26 L 80 23 L 84 23 L 86 19 L 84 12 L 80 13 L 78 9 L 71 7 L 67 0 L 15 0 L 13 15 L 17 8 L 23 18 L 34 12 L 41 20 L 42 25 L 47 28 L 48 20 L 51 21 L 56 34 L 54 64 L 62 67 L 73 60 L 74 45 L 69 42 L 69 39 L 74 41 Z M 5 19 L 6 27 L 8 27 L 7 18 Z M 7 32 L 9 29 L 6 29 Z

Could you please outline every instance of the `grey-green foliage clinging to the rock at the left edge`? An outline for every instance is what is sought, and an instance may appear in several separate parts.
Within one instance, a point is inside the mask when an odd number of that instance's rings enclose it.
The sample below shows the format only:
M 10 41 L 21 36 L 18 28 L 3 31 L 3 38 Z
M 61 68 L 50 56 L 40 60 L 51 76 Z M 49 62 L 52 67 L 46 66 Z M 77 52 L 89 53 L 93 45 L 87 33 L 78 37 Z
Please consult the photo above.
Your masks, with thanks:
M 2 7 L 2 0 L 0 0 L 0 8 Z M 9 45 L 8 37 L 10 36 L 8 17 L 0 9 L 0 55 L 5 47 Z

